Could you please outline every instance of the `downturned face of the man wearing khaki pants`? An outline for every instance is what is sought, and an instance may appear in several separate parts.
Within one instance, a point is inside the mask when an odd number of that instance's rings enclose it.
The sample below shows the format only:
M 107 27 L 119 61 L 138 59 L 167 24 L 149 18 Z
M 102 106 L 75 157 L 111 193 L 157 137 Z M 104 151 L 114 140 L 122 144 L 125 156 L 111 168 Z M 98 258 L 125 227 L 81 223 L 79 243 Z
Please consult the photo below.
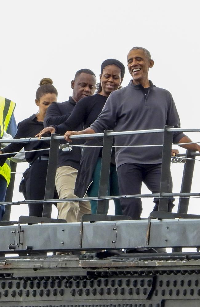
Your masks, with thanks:
M 96 89 L 96 77 L 82 72 L 71 82 L 73 88 L 72 98 L 78 102 L 81 98 L 94 95 Z

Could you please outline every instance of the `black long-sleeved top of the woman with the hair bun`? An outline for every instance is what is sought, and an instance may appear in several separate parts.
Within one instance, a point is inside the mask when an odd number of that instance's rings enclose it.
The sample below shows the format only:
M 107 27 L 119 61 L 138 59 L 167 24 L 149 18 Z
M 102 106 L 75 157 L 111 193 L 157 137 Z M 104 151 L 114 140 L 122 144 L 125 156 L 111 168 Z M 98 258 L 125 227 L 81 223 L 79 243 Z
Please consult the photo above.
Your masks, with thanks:
M 44 128 L 43 122 L 38 122 L 36 115 L 31 115 L 29 118 L 22 120 L 18 123 L 18 130 L 14 138 L 34 138 Z M 0 155 L 0 165 L 2 166 L 6 159 L 13 157 L 15 154 L 12 152 L 19 152 L 23 147 L 24 150 L 38 150 L 49 148 L 49 141 L 35 141 L 28 143 L 11 143 L 2 149 L 2 153 L 11 153 L 9 155 Z M 31 163 L 39 156 L 49 156 L 49 150 L 35 151 L 25 153 L 26 161 Z

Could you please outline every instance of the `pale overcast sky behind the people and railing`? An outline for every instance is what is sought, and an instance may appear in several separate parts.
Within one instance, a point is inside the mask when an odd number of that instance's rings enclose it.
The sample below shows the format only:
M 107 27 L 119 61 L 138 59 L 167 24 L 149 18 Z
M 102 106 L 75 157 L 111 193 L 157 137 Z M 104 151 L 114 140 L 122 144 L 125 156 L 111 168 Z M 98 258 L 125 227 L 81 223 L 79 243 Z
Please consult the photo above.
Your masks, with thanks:
M 155 63 L 149 78 L 172 93 L 182 128 L 199 127 L 198 1 L 1 0 L 0 11 L 0 95 L 17 103 L 17 122 L 37 112 L 35 91 L 43 77 L 54 81 L 62 102 L 72 94 L 70 82 L 78 69 L 90 68 L 98 77 L 103 60 L 116 58 L 126 66 L 128 51 L 142 46 Z M 126 69 L 122 86 L 129 80 Z M 188 135 L 200 141 L 199 134 Z M 199 163 L 193 192 L 199 191 Z M 18 171 L 26 167 L 23 163 Z M 180 191 L 182 169 L 183 165 L 172 165 L 174 192 Z M 19 181 L 21 175 L 16 176 Z M 17 190 L 18 186 L 14 200 L 23 199 Z M 190 212 L 200 213 L 198 199 L 190 204 Z M 144 200 L 143 216 L 152 207 Z M 13 219 L 28 212 L 21 208 L 13 210 Z

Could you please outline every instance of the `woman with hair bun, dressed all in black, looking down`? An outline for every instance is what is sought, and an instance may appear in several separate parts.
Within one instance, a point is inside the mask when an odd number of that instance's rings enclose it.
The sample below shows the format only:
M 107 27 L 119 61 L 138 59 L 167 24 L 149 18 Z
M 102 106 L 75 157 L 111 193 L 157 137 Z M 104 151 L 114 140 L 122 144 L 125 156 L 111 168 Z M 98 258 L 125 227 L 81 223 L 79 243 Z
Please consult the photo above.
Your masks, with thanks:
M 43 78 L 39 85 L 35 98 L 35 103 L 39 108 L 38 113 L 18 124 L 17 134 L 14 138 L 34 138 L 35 134 L 44 127 L 43 122 L 47 108 L 52 102 L 57 102 L 58 91 L 50 78 Z M 49 148 L 49 142 L 11 143 L 0 153 L 18 152 L 23 147 L 25 151 L 40 150 Z M 2 166 L 7 158 L 14 155 L 8 154 L 2 157 L 0 155 L 0 165 Z M 29 162 L 29 168 L 23 174 L 24 181 L 20 184 L 20 192 L 23 192 L 26 200 L 44 199 L 49 150 L 26 152 L 25 157 Z M 31 203 L 28 206 L 30 216 L 42 216 L 43 204 Z

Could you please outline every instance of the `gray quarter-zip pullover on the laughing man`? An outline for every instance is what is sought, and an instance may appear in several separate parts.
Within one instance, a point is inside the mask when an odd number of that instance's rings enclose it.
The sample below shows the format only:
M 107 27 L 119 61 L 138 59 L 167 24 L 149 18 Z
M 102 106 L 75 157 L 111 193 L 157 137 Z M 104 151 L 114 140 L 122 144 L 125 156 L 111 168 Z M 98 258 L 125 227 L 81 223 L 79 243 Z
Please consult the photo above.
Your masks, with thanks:
M 146 94 L 141 84 L 114 91 L 108 97 L 102 112 L 90 126 L 96 133 L 104 130 L 130 131 L 162 129 L 165 125 L 180 128 L 178 112 L 169 91 L 156 87 L 150 81 Z M 163 133 L 115 136 L 115 145 L 163 144 Z M 175 132 L 173 143 L 184 137 Z M 122 147 L 115 149 L 116 166 L 124 163 L 158 164 L 162 162 L 162 147 Z

